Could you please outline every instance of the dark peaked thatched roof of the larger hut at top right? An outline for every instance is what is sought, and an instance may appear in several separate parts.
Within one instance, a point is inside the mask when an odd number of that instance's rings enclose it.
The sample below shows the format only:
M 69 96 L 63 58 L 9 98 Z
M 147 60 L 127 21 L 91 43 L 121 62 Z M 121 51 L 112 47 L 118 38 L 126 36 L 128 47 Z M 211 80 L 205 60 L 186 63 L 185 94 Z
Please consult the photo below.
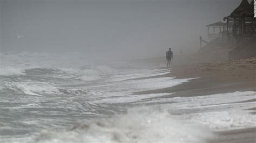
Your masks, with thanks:
M 231 13 L 230 17 L 241 17 L 246 11 L 251 8 L 247 0 L 242 0 L 240 5 Z

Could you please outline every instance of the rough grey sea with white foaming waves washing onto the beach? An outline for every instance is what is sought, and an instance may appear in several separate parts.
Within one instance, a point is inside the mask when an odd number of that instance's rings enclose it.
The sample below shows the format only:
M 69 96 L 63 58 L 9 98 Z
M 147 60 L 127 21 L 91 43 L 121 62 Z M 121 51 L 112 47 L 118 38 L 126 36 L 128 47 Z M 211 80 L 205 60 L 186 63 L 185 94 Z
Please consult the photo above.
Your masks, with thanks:
M 206 142 L 255 127 L 256 92 L 134 94 L 193 78 L 161 63 L 95 62 L 79 53 L 0 53 L 0 142 Z

